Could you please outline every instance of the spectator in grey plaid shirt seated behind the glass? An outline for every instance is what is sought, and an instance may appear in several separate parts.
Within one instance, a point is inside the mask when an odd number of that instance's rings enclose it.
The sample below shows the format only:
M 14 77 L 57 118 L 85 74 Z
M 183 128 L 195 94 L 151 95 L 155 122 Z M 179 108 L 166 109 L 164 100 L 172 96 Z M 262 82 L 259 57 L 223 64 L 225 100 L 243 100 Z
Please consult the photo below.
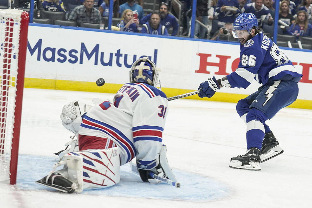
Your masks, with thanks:
M 75 7 L 69 14 L 68 20 L 76 21 L 78 25 L 81 22 L 96 23 L 102 22 L 101 13 L 93 7 L 94 0 L 85 0 L 84 5 Z

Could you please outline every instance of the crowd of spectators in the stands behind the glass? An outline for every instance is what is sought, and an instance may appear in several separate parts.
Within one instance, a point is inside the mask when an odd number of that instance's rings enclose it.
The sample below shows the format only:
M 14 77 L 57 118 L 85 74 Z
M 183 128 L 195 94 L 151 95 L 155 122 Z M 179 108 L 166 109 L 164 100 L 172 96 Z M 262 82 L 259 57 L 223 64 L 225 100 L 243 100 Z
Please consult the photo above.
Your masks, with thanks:
M 190 35 L 192 0 L 156 0 L 155 5 L 154 0 L 113 1 L 113 17 L 118 21 L 113 22 L 115 29 L 165 36 Z M 75 7 L 69 7 L 73 2 Z M 30 0 L 12 0 L 12 7 L 29 8 L 29 5 Z M 194 35 L 201 39 L 237 41 L 231 35 L 232 23 L 239 14 L 247 12 L 255 14 L 261 31 L 272 37 L 275 8 L 274 0 L 197 0 Z M 312 36 L 312 0 L 282 0 L 279 8 L 278 34 L 294 35 L 297 40 L 299 36 Z M 81 27 L 81 22 L 104 23 L 103 18 L 109 16 L 110 0 L 35 0 L 34 9 L 39 18 L 41 10 L 66 12 L 65 19 Z

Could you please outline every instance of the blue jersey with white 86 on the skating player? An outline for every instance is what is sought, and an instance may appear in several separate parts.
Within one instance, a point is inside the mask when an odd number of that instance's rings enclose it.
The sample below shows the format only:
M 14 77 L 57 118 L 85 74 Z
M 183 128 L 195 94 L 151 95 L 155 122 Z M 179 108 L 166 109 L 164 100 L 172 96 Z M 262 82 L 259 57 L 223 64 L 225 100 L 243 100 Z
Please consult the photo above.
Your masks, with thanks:
M 299 82 L 299 74 L 288 57 L 262 32 L 241 45 L 238 68 L 227 75 L 231 87 L 247 88 L 253 79 L 262 85 L 272 80 Z

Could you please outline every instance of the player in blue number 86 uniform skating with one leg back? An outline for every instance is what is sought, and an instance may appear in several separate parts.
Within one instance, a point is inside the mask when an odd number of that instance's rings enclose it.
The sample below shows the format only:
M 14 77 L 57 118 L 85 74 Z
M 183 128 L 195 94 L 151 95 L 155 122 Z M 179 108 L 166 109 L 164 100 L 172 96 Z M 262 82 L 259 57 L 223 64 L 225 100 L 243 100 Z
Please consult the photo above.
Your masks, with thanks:
M 210 98 L 221 87 L 246 88 L 254 79 L 262 84 L 258 91 L 236 105 L 237 113 L 247 125 L 248 152 L 232 157 L 229 164 L 236 169 L 260 171 L 260 162 L 284 151 L 265 122 L 297 99 L 302 75 L 283 51 L 259 31 L 254 14 L 240 14 L 233 24 L 232 34 L 241 42 L 238 68 L 222 79 L 216 80 L 213 76 L 201 83 L 198 95 Z

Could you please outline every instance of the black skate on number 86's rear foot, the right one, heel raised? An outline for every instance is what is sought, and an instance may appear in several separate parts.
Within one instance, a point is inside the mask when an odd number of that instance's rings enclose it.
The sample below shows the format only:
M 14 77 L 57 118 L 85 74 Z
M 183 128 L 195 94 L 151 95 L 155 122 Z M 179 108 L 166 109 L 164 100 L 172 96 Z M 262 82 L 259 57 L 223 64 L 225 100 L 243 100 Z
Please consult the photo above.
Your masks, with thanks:
M 266 133 L 262 142 L 260 151 L 261 162 L 270 160 L 273 157 L 283 153 L 284 150 L 280 147 L 278 141 L 272 132 Z

